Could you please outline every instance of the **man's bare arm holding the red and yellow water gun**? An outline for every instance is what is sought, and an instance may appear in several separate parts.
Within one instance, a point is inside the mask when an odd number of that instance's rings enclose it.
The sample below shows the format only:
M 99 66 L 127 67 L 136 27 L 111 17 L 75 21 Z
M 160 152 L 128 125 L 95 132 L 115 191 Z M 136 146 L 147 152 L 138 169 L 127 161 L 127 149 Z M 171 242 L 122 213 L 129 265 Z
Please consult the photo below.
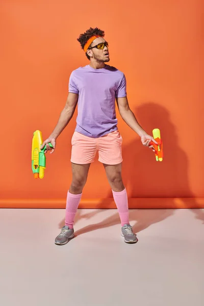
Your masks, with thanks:
M 140 137 L 142 144 L 145 146 L 148 146 L 150 148 L 153 148 L 153 146 L 149 145 L 150 141 L 153 141 L 157 144 L 157 142 L 154 140 L 153 137 L 148 135 L 143 129 L 142 126 L 138 123 L 134 113 L 131 111 L 129 107 L 129 103 L 127 101 L 127 97 L 117 98 L 117 106 L 119 109 L 120 116 L 124 120 L 124 122 L 131 127 L 133 131 L 135 131 Z

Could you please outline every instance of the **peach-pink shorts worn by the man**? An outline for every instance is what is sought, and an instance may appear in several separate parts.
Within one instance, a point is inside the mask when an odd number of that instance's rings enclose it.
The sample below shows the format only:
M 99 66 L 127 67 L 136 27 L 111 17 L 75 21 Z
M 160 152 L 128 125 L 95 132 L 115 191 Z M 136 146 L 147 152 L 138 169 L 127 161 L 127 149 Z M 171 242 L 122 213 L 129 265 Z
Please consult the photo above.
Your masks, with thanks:
M 71 144 L 71 162 L 74 164 L 93 163 L 96 151 L 98 151 L 98 160 L 101 163 L 117 165 L 122 162 L 122 137 L 119 131 L 99 138 L 91 138 L 74 132 Z

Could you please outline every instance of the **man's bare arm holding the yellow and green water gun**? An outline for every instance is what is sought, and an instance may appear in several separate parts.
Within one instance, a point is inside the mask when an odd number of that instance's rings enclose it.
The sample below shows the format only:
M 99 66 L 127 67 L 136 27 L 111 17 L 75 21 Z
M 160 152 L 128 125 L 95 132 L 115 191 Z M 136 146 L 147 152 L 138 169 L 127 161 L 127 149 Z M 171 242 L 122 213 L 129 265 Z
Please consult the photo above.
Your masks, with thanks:
M 55 146 L 56 146 L 56 139 L 62 133 L 62 131 L 65 129 L 65 127 L 71 120 L 74 114 L 75 108 L 77 106 L 77 103 L 78 103 L 78 97 L 79 95 L 77 93 L 69 92 L 65 107 L 60 114 L 57 125 L 55 129 L 53 130 L 53 132 L 50 134 L 50 136 L 43 142 L 41 149 L 46 145 L 47 150 L 52 150 L 51 153 L 54 152 Z M 50 146 L 48 145 L 48 142 L 52 143 L 52 145 L 54 146 L 54 149 L 50 148 Z

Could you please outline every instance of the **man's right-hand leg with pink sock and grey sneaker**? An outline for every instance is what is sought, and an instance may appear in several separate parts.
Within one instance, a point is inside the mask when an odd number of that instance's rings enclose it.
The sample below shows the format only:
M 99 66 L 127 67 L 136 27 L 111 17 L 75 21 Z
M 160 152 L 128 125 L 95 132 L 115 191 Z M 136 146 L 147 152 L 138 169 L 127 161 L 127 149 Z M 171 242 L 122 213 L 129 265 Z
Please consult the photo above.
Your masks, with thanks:
M 118 209 L 122 226 L 122 236 L 127 243 L 135 243 L 138 241 L 136 235 L 133 233 L 132 226 L 129 222 L 129 208 L 127 200 L 127 192 L 122 182 L 122 163 L 117 165 L 104 164 L 106 175 L 109 184 L 112 188 L 113 197 Z

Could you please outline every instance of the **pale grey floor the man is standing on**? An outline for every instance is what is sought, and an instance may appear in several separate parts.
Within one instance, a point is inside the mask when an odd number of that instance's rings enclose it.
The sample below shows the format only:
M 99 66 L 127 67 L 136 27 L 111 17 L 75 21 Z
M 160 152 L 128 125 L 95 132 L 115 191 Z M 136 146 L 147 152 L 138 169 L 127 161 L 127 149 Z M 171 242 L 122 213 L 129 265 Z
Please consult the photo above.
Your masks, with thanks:
M 1 209 L 3 306 L 204 305 L 204 210 L 79 210 L 77 237 L 54 244 L 64 210 Z

